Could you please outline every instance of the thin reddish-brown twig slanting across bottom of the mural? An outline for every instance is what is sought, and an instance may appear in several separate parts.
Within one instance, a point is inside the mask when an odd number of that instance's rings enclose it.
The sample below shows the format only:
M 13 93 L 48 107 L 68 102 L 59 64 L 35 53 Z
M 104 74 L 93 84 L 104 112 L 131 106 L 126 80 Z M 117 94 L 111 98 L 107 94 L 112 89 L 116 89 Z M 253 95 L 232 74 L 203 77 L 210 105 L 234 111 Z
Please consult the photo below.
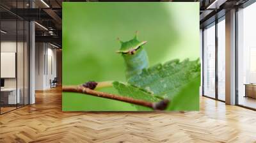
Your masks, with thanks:
M 154 110 L 164 110 L 164 109 L 166 109 L 166 107 L 169 103 L 169 100 L 162 100 L 161 102 L 157 102 L 157 103 L 146 102 L 144 100 L 136 100 L 134 98 L 129 98 L 129 97 L 125 97 L 125 96 L 118 96 L 116 94 L 95 91 L 93 89 L 90 89 L 90 88 L 84 87 L 84 86 L 63 86 L 62 91 L 63 92 L 70 92 L 70 93 L 90 94 L 92 96 L 97 96 L 97 97 L 101 97 L 101 98 L 108 98 L 108 99 L 111 99 L 111 100 L 118 100 L 118 101 L 122 101 L 122 102 L 133 103 L 133 104 L 136 104 L 136 105 L 149 107 L 149 108 L 154 109 Z

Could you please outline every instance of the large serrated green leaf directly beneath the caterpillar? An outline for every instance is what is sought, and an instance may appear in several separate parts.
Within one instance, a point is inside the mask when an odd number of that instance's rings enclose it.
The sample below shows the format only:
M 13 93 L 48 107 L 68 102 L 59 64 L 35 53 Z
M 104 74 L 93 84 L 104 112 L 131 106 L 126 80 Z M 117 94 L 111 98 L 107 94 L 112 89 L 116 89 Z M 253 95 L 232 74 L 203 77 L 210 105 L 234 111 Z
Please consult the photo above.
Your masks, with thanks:
M 171 99 L 184 86 L 200 75 L 199 60 L 180 62 L 178 59 L 157 64 L 133 75 L 128 83 L 152 94 Z M 199 86 L 199 85 L 198 85 Z

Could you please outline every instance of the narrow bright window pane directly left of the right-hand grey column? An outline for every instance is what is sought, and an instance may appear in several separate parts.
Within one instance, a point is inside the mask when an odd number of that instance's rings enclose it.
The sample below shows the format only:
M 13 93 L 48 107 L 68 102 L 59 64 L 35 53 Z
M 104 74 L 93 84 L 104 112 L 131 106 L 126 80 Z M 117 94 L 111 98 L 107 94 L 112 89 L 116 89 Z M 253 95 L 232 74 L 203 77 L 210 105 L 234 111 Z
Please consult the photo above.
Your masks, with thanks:
M 225 19 L 218 22 L 218 99 L 225 101 Z

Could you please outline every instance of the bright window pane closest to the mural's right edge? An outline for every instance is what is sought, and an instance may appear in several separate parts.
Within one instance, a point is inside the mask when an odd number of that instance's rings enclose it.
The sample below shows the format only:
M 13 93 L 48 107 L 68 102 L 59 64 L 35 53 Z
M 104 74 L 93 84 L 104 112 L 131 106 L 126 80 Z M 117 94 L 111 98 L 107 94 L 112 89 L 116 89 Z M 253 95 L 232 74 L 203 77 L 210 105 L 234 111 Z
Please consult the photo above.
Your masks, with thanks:
M 204 95 L 215 98 L 215 26 L 204 29 Z

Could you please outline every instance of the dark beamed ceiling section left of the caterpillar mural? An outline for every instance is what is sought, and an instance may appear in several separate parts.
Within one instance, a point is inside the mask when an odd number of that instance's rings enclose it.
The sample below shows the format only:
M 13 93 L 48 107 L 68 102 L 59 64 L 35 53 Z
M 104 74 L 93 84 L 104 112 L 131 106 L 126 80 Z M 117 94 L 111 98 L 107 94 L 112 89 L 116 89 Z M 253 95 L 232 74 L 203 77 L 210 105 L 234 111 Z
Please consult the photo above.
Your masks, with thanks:
M 23 20 L 35 20 L 36 41 L 51 42 L 61 47 L 61 5 L 61 0 L 1 0 L 1 29 L 8 31 L 1 33 L 2 38 L 11 39 L 15 35 L 19 38 L 23 33 L 23 26 L 20 27 Z

